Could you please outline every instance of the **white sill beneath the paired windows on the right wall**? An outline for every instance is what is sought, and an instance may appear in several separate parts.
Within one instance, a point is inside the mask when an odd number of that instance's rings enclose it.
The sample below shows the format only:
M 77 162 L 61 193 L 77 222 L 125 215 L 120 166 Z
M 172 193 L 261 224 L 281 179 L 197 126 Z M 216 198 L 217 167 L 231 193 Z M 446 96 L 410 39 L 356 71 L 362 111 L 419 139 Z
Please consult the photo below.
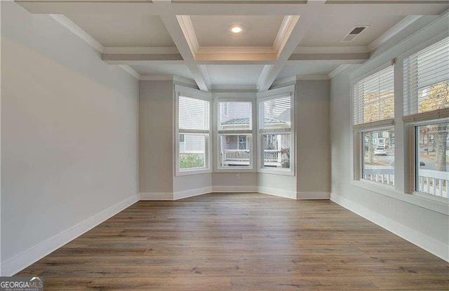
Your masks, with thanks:
M 443 215 L 449 215 L 449 201 L 436 201 L 435 199 L 418 196 L 417 194 L 406 194 L 395 191 L 393 187 L 389 187 L 388 185 L 377 185 L 373 184 L 373 182 L 363 180 L 352 180 L 351 185 L 361 189 L 366 189 L 368 191 L 373 191 L 377 194 L 389 196 L 390 198 L 394 198 L 406 203 L 417 205 L 422 208 L 441 213 Z

